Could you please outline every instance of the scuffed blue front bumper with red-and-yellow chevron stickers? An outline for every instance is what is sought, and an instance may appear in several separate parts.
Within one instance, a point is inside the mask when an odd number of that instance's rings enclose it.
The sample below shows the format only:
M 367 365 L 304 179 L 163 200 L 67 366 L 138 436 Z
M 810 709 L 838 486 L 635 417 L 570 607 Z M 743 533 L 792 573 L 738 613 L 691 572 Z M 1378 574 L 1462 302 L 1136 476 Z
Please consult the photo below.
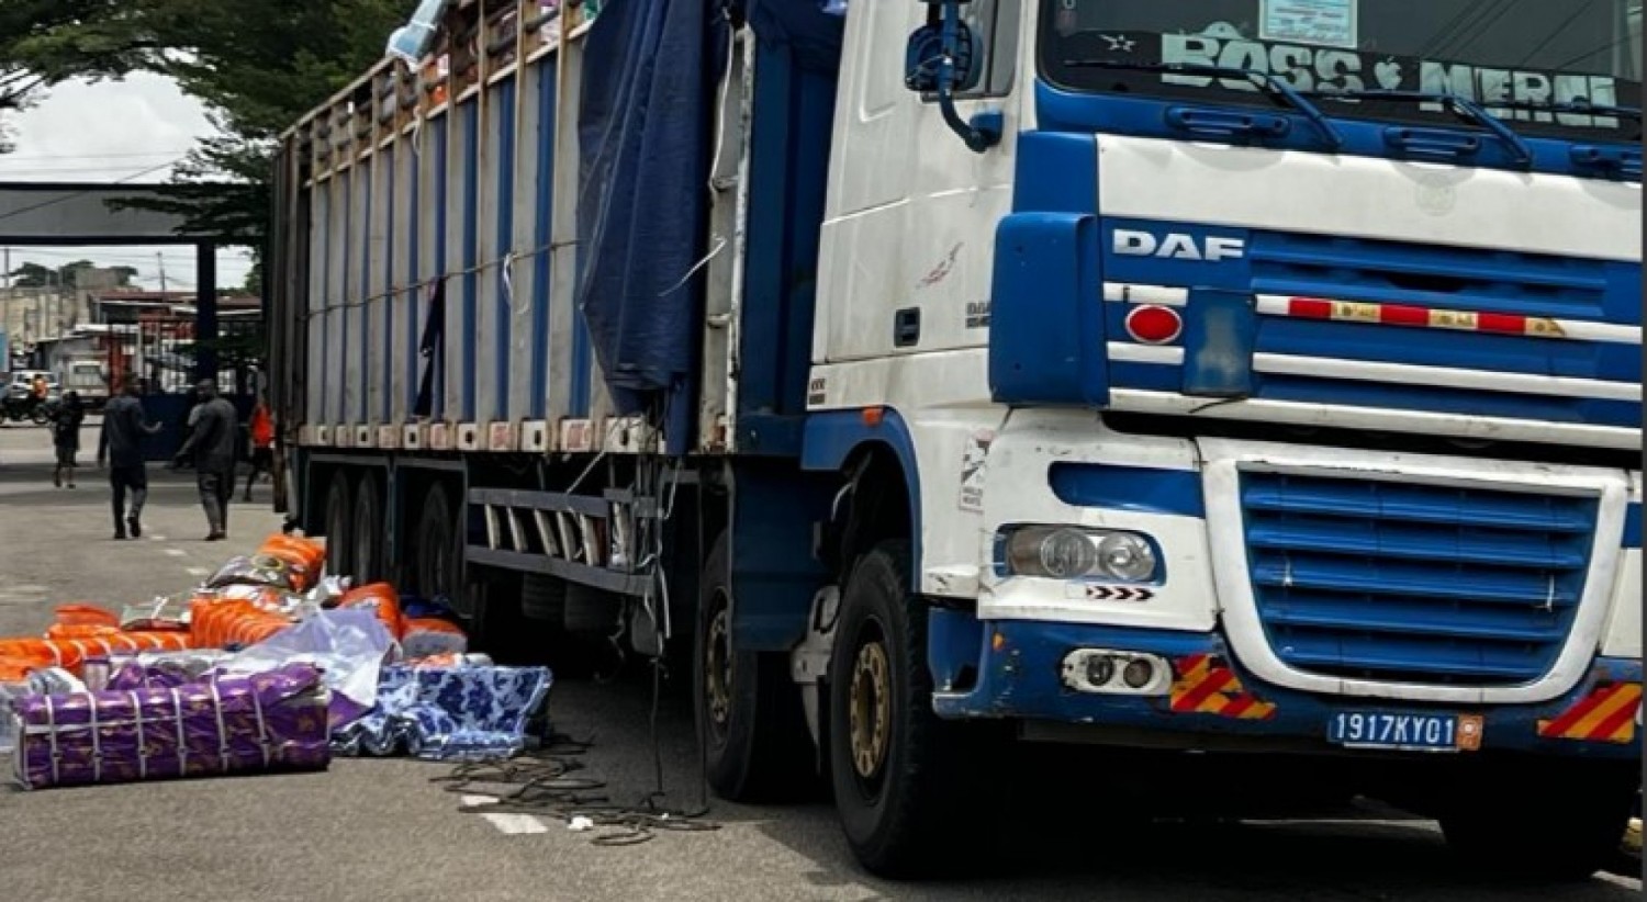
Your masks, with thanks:
M 1326 741 L 1337 711 L 1481 718 L 1479 752 L 1639 759 L 1642 665 L 1596 658 L 1566 695 L 1540 704 L 1435 704 L 1337 698 L 1265 685 L 1247 673 L 1217 634 L 1117 629 L 1036 621 L 983 622 L 934 609 L 934 708 L 949 719 L 1010 718 L 1108 729 L 1118 744 L 1220 751 L 1273 747 L 1347 751 Z M 1173 688 L 1158 696 L 1082 693 L 1066 686 L 1064 657 L 1075 649 L 1153 653 L 1173 662 Z M 1382 752 L 1377 752 L 1382 754 Z M 1395 752 L 1423 756 L 1435 752 Z M 1471 754 L 1471 752 L 1463 752 Z

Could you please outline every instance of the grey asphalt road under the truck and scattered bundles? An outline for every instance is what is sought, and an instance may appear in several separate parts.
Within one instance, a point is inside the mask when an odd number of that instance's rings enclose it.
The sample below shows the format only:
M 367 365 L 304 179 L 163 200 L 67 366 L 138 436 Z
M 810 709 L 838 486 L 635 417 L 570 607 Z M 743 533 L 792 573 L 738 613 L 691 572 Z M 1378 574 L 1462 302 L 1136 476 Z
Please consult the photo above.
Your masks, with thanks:
M 87 435 L 92 435 L 87 430 Z M 86 454 L 89 458 L 89 454 Z M 81 472 L 51 487 L 44 430 L 0 428 L 0 635 L 38 634 L 66 601 L 119 604 L 184 591 L 249 550 L 278 518 L 237 507 L 231 542 L 206 545 L 189 474 L 152 471 L 142 542 L 110 542 L 107 486 Z M 563 681 L 558 731 L 593 739 L 581 777 L 613 800 L 654 788 L 647 680 Z M 695 807 L 697 752 L 679 691 L 659 718 L 665 803 Z M 10 767 L 10 762 L 5 762 Z M 7 770 L 8 772 L 8 770 Z M 888 884 L 848 854 L 827 803 L 713 803 L 713 831 L 660 831 L 601 846 L 552 816 L 484 816 L 433 782 L 448 765 L 344 759 L 324 774 L 33 793 L 0 790 L 0 887 L 28 902 L 385 899 L 1115 899 L 1115 900 L 1626 900 L 1634 877 L 1525 887 L 1453 866 L 1435 825 L 1413 820 L 1156 825 L 1100 830 L 1080 811 L 1028 818 L 1047 851 L 1015 876 Z M 473 800 L 471 800 L 473 802 Z M 1377 818 L 1379 815 L 1369 815 Z M 967 825 L 957 825 L 965 830 Z

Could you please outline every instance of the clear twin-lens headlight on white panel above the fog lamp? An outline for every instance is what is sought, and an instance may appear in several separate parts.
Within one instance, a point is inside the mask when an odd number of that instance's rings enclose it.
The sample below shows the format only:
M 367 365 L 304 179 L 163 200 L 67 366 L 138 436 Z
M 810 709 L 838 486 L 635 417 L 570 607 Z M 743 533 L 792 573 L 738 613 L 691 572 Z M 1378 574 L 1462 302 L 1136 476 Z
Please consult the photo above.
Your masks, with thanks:
M 1075 527 L 1019 527 L 1005 537 L 1003 563 L 1013 576 L 1151 583 L 1161 561 L 1143 535 Z

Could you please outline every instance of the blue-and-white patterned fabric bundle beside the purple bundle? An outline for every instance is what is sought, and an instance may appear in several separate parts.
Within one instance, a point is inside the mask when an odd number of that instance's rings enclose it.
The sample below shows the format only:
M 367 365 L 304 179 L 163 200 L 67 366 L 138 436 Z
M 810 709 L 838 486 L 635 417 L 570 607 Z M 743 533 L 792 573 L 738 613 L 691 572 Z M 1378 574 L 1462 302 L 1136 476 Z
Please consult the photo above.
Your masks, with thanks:
M 525 728 L 548 698 L 545 667 L 385 667 L 377 706 L 333 734 L 338 754 L 494 760 L 525 747 Z

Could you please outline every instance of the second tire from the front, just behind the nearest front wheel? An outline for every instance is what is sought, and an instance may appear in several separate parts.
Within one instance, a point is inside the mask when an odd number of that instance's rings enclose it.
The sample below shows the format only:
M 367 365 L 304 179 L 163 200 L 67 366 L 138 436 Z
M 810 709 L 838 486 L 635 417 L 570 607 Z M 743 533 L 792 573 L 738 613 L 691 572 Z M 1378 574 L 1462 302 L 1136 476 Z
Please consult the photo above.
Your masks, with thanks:
M 817 749 L 787 657 L 735 647 L 730 576 L 721 533 L 703 565 L 692 640 L 693 709 L 708 783 L 730 802 L 815 797 Z

